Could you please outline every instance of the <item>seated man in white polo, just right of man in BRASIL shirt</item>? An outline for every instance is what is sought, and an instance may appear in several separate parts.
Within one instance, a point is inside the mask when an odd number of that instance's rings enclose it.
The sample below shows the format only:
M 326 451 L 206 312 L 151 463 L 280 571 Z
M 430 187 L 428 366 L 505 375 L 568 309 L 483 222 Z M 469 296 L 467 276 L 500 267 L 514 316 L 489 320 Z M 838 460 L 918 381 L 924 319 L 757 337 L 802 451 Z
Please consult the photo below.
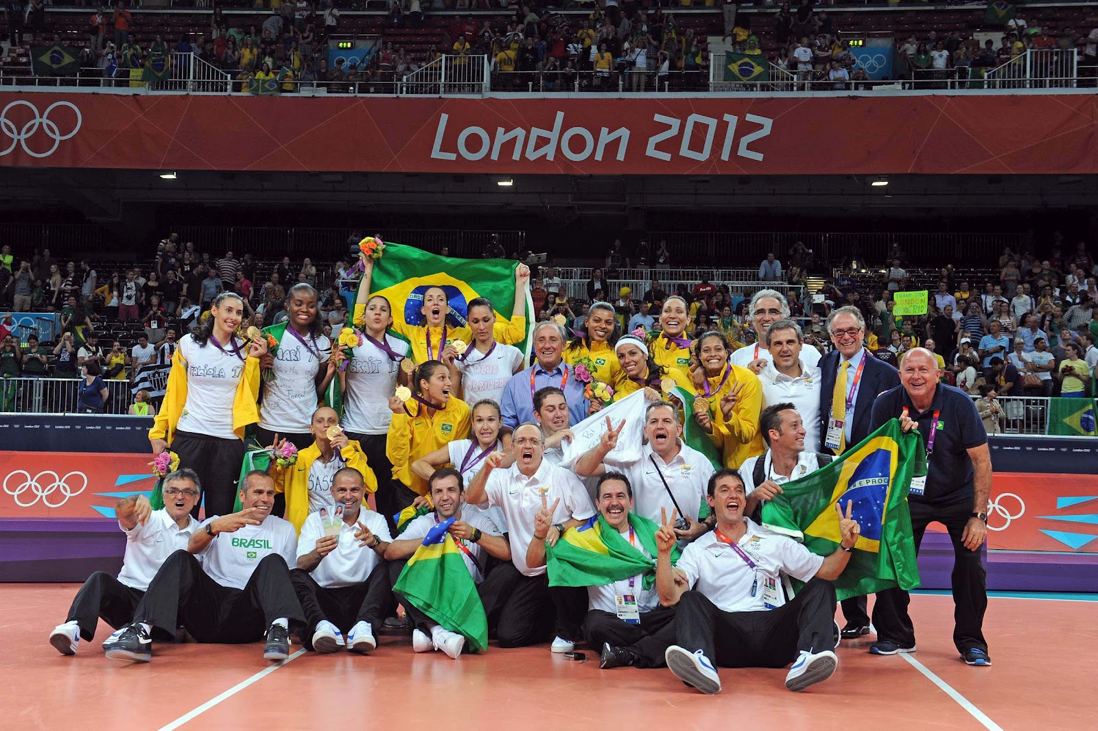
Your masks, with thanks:
M 306 650 L 335 652 L 346 645 L 369 652 L 378 646 L 373 628 L 396 609 L 382 562 L 389 524 L 362 507 L 366 488 L 361 472 L 340 469 L 332 477 L 335 505 L 310 514 L 301 527 L 290 581 L 305 612 Z

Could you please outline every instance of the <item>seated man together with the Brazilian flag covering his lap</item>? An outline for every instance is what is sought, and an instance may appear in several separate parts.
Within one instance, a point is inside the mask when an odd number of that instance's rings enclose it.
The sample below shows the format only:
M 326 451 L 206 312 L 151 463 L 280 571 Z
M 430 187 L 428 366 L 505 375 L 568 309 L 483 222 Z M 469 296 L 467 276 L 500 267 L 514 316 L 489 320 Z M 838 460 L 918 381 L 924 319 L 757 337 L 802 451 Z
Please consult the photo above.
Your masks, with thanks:
M 474 651 L 488 648 L 488 618 L 477 585 L 489 555 L 511 561 L 511 544 L 483 513 L 467 509 L 460 472 L 439 468 L 428 484 L 434 513 L 407 524 L 385 549 L 385 559 L 407 560 L 394 591 L 415 623 L 412 649 L 441 650 L 457 660 L 467 643 Z

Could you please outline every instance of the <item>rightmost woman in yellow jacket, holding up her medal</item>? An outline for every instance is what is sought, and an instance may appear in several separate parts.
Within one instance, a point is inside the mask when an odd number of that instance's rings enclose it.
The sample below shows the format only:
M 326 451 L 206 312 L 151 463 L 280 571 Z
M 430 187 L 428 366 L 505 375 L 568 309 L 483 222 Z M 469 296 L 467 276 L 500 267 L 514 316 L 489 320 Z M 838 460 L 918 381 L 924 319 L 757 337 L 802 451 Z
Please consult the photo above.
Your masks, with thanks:
M 724 456 L 725 466 L 765 451 L 759 429 L 762 384 L 750 369 L 728 362 L 728 340 L 716 330 L 694 341 L 694 357 L 705 371 L 702 385 L 693 387 L 694 420 Z

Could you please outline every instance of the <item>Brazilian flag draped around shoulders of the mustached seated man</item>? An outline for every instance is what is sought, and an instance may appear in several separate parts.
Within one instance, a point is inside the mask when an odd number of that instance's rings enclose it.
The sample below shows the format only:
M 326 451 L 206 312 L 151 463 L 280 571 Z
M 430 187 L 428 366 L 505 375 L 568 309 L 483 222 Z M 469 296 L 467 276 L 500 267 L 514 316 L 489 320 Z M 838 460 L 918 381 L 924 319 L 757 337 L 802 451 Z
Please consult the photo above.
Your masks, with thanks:
M 629 525 L 637 540 L 656 555 L 653 521 L 629 514 Z M 671 550 L 672 564 L 679 561 L 677 547 Z M 602 586 L 643 574 L 641 584 L 651 588 L 656 581 L 656 561 L 635 549 L 627 538 L 598 514 L 575 530 L 567 530 L 553 547 L 546 547 L 549 586 Z

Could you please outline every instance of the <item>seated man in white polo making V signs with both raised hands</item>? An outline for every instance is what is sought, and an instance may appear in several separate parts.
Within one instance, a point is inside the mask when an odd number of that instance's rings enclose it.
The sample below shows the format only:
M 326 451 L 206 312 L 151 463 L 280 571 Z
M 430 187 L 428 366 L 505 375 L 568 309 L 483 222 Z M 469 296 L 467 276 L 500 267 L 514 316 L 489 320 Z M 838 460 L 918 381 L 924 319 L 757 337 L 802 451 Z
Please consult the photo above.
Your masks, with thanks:
M 860 527 L 839 506 L 840 547 L 824 558 L 792 538 L 773 533 L 743 515 L 743 480 L 731 469 L 709 477 L 708 503 L 717 527 L 686 547 L 675 581 L 671 549 L 677 537 L 669 521 L 656 533 L 656 586 L 660 603 L 677 605 L 677 644 L 668 648 L 668 667 L 702 693 L 720 690 L 717 666 L 784 667 L 789 690 L 826 681 L 839 659 L 834 648 L 834 586 L 850 561 Z M 670 521 L 671 524 L 674 520 Z M 849 547 L 849 548 L 848 548 Z M 807 582 L 785 601 L 781 573 Z

